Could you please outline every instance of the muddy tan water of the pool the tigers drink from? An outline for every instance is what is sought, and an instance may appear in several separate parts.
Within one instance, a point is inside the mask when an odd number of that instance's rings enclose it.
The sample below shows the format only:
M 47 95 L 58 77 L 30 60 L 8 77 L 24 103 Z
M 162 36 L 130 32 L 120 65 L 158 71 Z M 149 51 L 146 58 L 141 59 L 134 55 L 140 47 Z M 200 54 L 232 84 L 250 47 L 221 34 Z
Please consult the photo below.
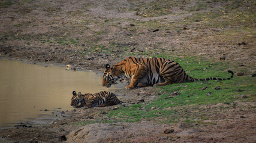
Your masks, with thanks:
M 45 109 L 70 110 L 73 91 L 95 93 L 107 89 L 101 86 L 102 76 L 91 71 L 8 60 L 0 60 L 0 65 L 0 126 L 51 114 Z

